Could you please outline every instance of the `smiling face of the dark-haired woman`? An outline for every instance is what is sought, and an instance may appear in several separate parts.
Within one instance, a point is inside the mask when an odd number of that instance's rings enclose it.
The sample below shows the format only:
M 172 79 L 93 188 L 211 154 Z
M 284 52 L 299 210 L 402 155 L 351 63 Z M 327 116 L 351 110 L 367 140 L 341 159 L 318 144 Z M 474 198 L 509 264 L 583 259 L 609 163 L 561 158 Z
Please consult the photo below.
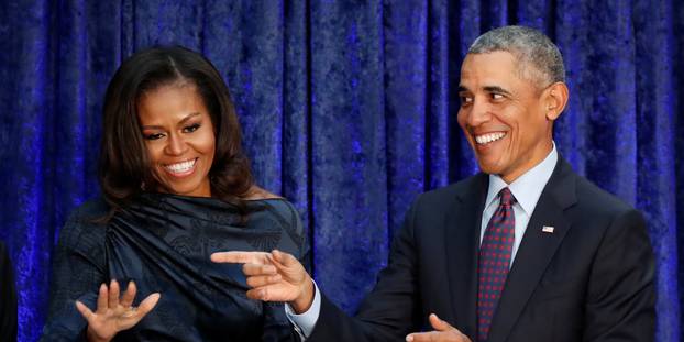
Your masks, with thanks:
M 140 99 L 137 115 L 157 191 L 210 197 L 209 170 L 216 137 L 211 118 L 197 87 L 172 84 Z

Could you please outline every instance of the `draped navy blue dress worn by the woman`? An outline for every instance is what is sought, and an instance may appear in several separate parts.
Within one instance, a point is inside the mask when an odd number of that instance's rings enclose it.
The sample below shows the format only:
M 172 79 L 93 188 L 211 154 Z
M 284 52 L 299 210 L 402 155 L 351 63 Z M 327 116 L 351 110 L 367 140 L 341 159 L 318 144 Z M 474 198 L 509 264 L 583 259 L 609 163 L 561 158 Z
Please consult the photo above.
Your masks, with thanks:
M 102 200 L 85 203 L 60 232 L 43 341 L 82 340 L 86 321 L 74 301 L 96 308 L 100 284 L 137 286 L 135 305 L 153 293 L 156 307 L 114 341 L 296 341 L 282 304 L 246 298 L 241 265 L 214 264 L 220 251 L 278 249 L 307 265 L 308 246 L 295 208 L 283 199 L 234 207 L 212 198 L 145 194 L 108 223 Z

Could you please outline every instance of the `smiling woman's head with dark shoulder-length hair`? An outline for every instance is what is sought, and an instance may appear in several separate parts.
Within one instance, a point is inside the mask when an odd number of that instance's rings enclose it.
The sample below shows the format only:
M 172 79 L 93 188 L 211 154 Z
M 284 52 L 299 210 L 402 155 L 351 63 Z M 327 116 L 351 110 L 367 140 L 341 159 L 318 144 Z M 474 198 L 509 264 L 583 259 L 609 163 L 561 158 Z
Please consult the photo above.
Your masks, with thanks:
M 192 151 L 198 146 L 197 135 L 213 137 L 214 151 L 202 154 L 209 158 L 198 161 L 203 165 L 192 167 L 190 178 L 243 213 L 240 198 L 261 192 L 253 186 L 242 153 L 240 123 L 228 87 L 199 54 L 168 47 L 133 55 L 107 90 L 103 119 L 100 184 L 112 211 L 141 189 L 209 196 L 186 192 L 192 191 L 186 188 L 190 179 L 172 183 L 175 178 L 165 172 L 181 169 L 178 163 L 198 156 Z M 167 163 L 166 168 L 159 163 Z M 174 186 L 183 183 L 185 191 L 176 191 Z

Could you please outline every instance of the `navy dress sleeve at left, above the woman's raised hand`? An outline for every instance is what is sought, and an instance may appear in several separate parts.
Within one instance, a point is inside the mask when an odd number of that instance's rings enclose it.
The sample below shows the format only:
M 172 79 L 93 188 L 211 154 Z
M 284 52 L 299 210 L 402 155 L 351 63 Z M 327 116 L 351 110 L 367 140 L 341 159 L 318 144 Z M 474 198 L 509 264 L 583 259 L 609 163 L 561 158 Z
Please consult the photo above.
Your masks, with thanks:
M 106 279 L 103 224 L 92 223 L 84 206 L 62 229 L 54 253 L 49 310 L 41 341 L 86 341 L 86 320 L 76 309 L 78 299 L 93 309 Z

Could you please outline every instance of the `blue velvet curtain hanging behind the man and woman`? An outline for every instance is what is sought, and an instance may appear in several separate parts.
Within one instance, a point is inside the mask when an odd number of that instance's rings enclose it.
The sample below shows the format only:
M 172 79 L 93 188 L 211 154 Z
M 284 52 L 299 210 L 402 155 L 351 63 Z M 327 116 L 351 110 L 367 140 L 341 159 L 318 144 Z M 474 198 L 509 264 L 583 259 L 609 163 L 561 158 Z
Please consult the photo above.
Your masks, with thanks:
M 646 214 L 658 341 L 679 340 L 681 1 L 5 0 L 0 239 L 15 264 L 20 341 L 40 337 L 60 225 L 98 195 L 102 97 L 133 52 L 181 44 L 216 64 L 258 183 L 296 205 L 318 284 L 351 312 L 416 195 L 476 172 L 455 123 L 461 60 L 482 32 L 514 23 L 560 46 L 571 100 L 558 147 Z

